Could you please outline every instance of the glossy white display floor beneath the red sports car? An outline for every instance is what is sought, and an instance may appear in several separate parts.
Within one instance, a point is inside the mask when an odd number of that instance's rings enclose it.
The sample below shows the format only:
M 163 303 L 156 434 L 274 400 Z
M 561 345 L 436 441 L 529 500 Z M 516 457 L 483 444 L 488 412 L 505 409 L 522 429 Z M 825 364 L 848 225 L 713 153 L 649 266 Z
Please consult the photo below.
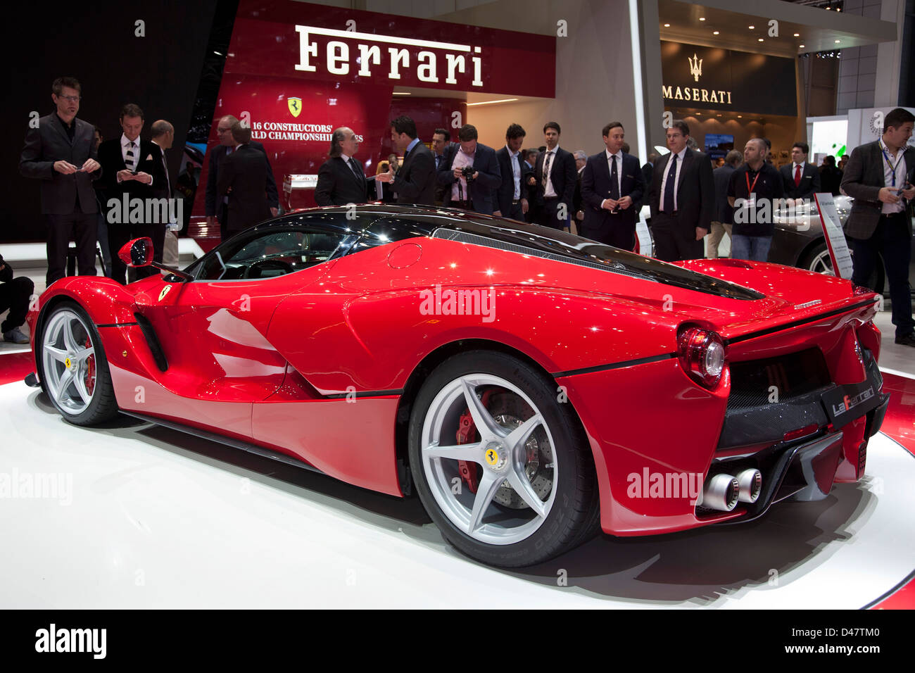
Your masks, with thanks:
M 915 457 L 883 435 L 866 479 L 819 503 L 506 571 L 450 548 L 415 498 L 129 418 L 76 428 L 25 384 L 0 385 L 0 427 L 0 478 L 20 483 L 0 497 L 2 608 L 860 608 L 915 564 Z M 27 497 L 42 475 L 61 490 Z

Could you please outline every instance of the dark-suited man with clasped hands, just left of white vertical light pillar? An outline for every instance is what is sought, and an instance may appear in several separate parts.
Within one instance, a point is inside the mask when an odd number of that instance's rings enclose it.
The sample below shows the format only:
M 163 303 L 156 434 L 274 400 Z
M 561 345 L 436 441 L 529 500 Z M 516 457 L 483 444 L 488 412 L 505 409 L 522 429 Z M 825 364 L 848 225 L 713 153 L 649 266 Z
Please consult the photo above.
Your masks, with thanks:
M 645 193 L 639 159 L 622 151 L 623 125 L 610 122 L 602 131 L 606 149 L 587 158 L 581 176 L 585 201 L 582 233 L 598 243 L 623 250 L 635 247 L 637 204 Z

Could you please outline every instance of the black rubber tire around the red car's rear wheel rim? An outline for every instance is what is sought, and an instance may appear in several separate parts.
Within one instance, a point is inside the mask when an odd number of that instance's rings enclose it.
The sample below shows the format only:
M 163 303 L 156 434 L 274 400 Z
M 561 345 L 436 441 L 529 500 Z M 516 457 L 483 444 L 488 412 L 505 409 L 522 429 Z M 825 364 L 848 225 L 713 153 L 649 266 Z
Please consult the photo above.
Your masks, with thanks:
M 468 374 L 491 374 L 516 385 L 539 410 L 553 440 L 554 461 L 559 466 L 553 505 L 543 523 L 519 542 L 490 544 L 470 537 L 443 512 L 427 480 L 421 453 L 426 415 L 444 386 Z M 409 429 L 410 467 L 416 491 L 442 535 L 468 557 L 502 568 L 531 566 L 575 548 L 599 530 L 594 460 L 575 411 L 569 403 L 557 401 L 556 387 L 553 379 L 510 355 L 471 351 L 452 356 L 436 367 L 416 396 Z M 487 408 L 492 407 L 490 403 Z M 490 507 L 494 506 L 501 507 L 493 501 Z

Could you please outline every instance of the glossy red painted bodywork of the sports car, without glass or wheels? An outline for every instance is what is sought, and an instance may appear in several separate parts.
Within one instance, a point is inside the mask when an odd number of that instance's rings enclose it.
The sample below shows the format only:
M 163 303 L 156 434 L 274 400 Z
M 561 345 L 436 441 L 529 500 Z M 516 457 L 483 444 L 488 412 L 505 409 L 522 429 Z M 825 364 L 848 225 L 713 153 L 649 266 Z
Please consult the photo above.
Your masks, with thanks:
M 419 365 L 467 340 L 520 353 L 554 374 L 581 419 L 597 467 L 603 529 L 642 535 L 743 512 L 700 517 L 690 497 L 630 493 L 631 475 L 646 471 L 704 480 L 715 456 L 729 370 L 710 390 L 695 383 L 676 357 L 680 326 L 720 334 L 729 363 L 819 348 L 833 380 L 843 383 L 863 380 L 856 344 L 878 337 L 870 322 L 874 297 L 853 296 L 848 281 L 776 265 L 683 266 L 766 297 L 727 299 L 416 237 L 259 280 L 151 277 L 122 288 L 72 277 L 52 286 L 41 307 L 70 298 L 108 325 L 99 331 L 122 408 L 251 440 L 387 494 L 401 494 L 396 420 Z M 483 303 L 476 314 L 425 310 L 441 288 L 477 290 L 490 310 Z M 820 303 L 811 305 L 812 297 Z M 156 366 L 137 314 L 156 331 L 166 372 Z M 593 368 L 599 371 L 577 371 Z M 843 429 L 840 470 L 856 464 L 861 432 L 861 423 Z M 832 473 L 824 479 L 831 482 Z

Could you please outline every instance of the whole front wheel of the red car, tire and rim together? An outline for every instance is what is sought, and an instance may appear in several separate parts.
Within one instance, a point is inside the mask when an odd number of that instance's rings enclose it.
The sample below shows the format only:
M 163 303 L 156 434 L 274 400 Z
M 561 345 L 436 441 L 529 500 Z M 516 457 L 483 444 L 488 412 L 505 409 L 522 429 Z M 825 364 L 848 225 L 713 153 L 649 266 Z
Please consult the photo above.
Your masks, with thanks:
M 117 401 L 102 340 L 76 303 L 51 309 L 36 339 L 38 377 L 60 414 L 88 426 L 117 415 Z

